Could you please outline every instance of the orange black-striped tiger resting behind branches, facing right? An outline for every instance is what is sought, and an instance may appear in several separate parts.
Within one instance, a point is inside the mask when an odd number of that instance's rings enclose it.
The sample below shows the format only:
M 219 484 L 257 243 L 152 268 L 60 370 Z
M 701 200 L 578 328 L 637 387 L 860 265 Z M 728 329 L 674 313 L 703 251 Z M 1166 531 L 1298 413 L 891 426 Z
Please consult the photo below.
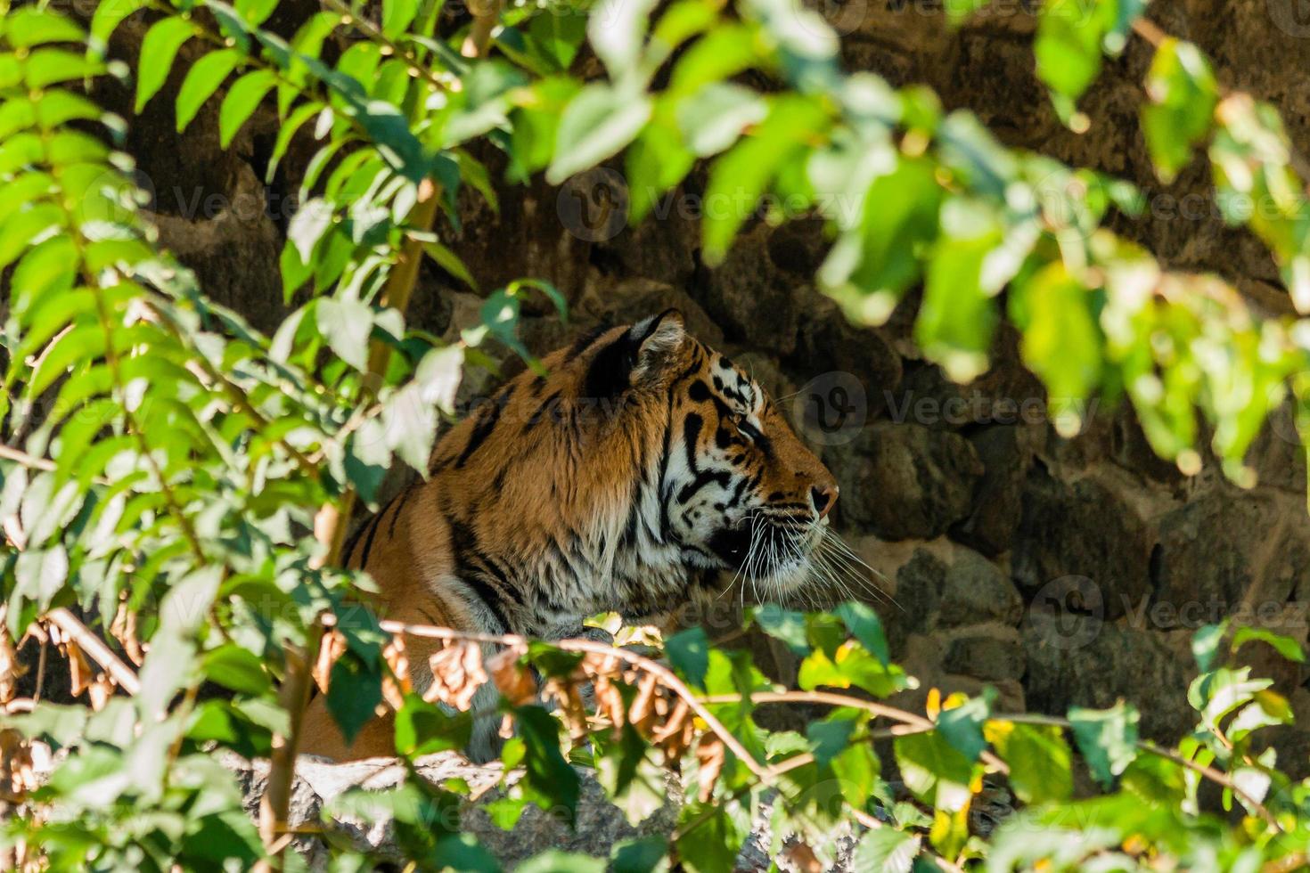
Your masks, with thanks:
M 451 428 L 426 479 L 345 544 L 386 618 L 565 639 L 599 613 L 667 614 L 726 576 L 761 599 L 810 580 L 837 482 L 679 310 L 593 331 L 541 364 Z M 406 647 L 422 692 L 440 643 Z M 487 759 L 495 739 L 478 733 L 468 753 Z M 347 745 L 320 695 L 301 750 L 389 755 L 393 722 L 375 717 Z

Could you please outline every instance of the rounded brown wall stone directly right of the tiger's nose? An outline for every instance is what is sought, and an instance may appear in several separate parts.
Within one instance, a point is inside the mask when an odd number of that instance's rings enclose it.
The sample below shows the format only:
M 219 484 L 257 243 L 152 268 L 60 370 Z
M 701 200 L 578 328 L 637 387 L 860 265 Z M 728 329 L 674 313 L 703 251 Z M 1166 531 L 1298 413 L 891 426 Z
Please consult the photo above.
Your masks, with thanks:
M 982 463 L 968 440 L 917 424 L 878 421 L 824 453 L 845 524 L 883 539 L 931 539 L 969 514 Z M 859 483 L 858 487 L 852 487 Z

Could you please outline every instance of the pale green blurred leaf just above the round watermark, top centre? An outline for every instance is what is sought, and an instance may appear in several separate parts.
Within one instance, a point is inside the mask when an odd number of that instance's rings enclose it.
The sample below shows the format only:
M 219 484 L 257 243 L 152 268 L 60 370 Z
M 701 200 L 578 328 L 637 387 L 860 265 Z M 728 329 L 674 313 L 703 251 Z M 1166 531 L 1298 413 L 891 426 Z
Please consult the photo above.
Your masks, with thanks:
M 618 153 L 633 141 L 650 114 L 650 98 L 645 94 L 622 92 L 601 82 L 587 85 L 569 102 L 559 119 L 555 153 L 546 170 L 546 181 L 559 185 Z

